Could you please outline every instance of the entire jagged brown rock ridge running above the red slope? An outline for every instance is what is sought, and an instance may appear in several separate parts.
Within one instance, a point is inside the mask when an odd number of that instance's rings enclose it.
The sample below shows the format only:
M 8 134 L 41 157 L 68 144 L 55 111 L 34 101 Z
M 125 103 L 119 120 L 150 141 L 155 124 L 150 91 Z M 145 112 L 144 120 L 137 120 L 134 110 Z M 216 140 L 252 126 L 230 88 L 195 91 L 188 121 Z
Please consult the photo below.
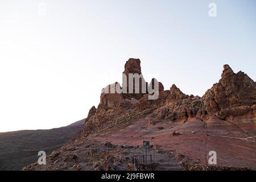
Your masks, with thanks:
M 141 61 L 129 59 L 123 73 L 125 75 L 141 74 Z M 114 86 L 120 85 L 116 82 Z M 153 79 L 149 86 L 154 88 Z M 170 90 L 164 90 L 160 82 L 159 98 L 148 100 L 148 94 L 102 93 L 100 104 L 96 110 L 93 109 L 94 115 L 92 111 L 89 112 L 86 121 L 87 131 L 106 126 L 105 122 L 116 121 L 127 114 L 148 109 L 153 110 L 155 119 L 174 122 L 186 122 L 191 118 L 207 121 L 212 117 L 230 122 L 248 122 L 256 118 L 255 82 L 241 71 L 234 73 L 229 65 L 224 65 L 220 81 L 214 84 L 203 97 L 188 96 L 174 84 Z

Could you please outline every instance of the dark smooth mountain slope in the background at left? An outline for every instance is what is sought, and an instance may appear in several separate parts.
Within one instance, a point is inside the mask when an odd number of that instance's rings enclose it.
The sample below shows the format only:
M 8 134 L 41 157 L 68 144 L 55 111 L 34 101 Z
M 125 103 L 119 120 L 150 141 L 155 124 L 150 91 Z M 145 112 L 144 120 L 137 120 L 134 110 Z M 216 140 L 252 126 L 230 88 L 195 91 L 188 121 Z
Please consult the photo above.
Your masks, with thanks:
M 0 133 L 0 170 L 21 170 L 39 158 L 69 142 L 84 127 L 85 119 L 50 130 L 22 130 Z

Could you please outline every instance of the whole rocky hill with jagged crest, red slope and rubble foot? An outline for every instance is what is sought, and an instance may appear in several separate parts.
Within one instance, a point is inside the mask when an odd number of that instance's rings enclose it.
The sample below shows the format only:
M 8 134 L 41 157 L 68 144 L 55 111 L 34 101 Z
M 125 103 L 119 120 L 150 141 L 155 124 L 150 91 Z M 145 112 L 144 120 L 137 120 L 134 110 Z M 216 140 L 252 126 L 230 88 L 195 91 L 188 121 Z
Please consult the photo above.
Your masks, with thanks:
M 256 83 L 245 73 L 234 73 L 224 65 L 220 80 L 203 97 L 188 96 L 175 84 L 164 90 L 153 78 L 144 81 L 139 59 L 126 61 L 123 75 L 129 78 L 129 73 L 141 75 L 138 93 L 135 86 L 130 89 L 133 93 L 128 92 L 134 80 L 108 85 L 105 90 L 114 87 L 127 92 L 102 92 L 100 104 L 89 110 L 82 137 L 53 151 L 47 165 L 31 164 L 26 169 L 136 169 L 132 156 L 144 154 L 143 140 L 150 141 L 150 151 L 158 156 L 154 165 L 144 169 L 208 165 L 210 151 L 217 154 L 214 169 L 256 168 Z M 154 94 L 150 88 L 156 82 L 158 98 L 150 100 L 148 96 Z

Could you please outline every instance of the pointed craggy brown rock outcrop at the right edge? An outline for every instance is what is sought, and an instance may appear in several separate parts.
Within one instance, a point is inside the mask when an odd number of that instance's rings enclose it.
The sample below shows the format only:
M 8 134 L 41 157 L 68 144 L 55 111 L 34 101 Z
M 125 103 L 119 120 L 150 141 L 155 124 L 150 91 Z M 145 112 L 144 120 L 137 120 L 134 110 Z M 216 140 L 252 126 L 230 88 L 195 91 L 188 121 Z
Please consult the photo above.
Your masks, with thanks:
M 245 73 L 234 73 L 229 65 L 224 65 L 220 81 L 204 94 L 202 101 L 202 117 L 216 115 L 232 121 L 237 116 L 253 112 L 256 84 Z

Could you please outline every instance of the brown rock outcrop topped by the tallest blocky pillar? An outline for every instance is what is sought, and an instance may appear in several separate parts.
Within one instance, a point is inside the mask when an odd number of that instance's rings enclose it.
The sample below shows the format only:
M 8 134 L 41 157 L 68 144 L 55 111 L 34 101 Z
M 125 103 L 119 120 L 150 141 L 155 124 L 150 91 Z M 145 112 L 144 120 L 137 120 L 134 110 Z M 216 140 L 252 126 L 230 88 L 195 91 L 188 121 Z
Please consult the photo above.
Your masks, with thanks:
M 131 77 L 133 75 L 129 77 L 130 73 L 137 74 L 135 76 L 139 77 L 139 84 L 133 83 L 133 88 L 130 89 L 132 90 L 131 93 L 129 92 L 129 85 L 135 80 L 134 77 Z M 104 127 L 105 122 L 117 121 L 124 115 L 135 112 L 134 104 L 147 93 L 147 86 L 141 73 L 141 61 L 139 59 L 129 59 L 125 64 L 125 71 L 123 71 L 122 87 L 118 82 L 115 82 L 102 89 L 100 104 L 95 114 L 88 115 L 86 120 L 86 131 Z M 135 92 L 137 89 L 139 90 L 138 93 Z M 144 92 L 142 92 L 143 89 Z M 163 89 L 163 86 L 161 89 Z

